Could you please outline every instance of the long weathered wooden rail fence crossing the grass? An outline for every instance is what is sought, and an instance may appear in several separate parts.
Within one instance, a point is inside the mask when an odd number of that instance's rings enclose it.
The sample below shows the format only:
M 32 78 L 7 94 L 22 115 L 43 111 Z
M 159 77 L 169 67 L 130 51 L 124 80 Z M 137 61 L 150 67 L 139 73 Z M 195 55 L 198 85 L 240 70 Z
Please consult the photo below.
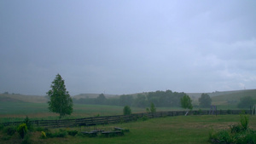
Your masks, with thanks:
M 131 115 L 117 115 L 107 117 L 91 117 L 91 118 L 76 118 L 76 119 L 61 119 L 61 120 L 32 120 L 33 126 L 47 127 L 47 128 L 61 128 L 61 127 L 74 127 L 81 124 L 115 124 L 125 123 L 130 121 L 136 121 L 140 118 L 161 118 L 161 117 L 173 117 L 185 115 L 187 111 L 172 111 L 172 112 L 143 112 L 134 113 Z M 250 110 L 244 111 L 245 113 L 251 113 Z M 218 110 L 217 115 L 224 114 L 239 114 L 241 110 Z M 207 110 L 189 111 L 187 115 L 216 115 L 216 112 L 210 112 Z M 17 125 L 23 122 L 9 122 L 2 123 L 3 125 Z

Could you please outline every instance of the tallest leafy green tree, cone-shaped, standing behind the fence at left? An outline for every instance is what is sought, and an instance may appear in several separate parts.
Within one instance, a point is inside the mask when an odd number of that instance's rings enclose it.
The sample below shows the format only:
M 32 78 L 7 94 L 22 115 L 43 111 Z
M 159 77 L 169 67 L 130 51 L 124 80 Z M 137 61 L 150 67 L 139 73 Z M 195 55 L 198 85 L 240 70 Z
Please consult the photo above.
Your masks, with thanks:
M 46 93 L 50 101 L 49 111 L 60 114 L 60 118 L 70 115 L 73 112 L 73 100 L 68 94 L 64 80 L 57 74 L 55 80 L 50 85 L 51 89 Z

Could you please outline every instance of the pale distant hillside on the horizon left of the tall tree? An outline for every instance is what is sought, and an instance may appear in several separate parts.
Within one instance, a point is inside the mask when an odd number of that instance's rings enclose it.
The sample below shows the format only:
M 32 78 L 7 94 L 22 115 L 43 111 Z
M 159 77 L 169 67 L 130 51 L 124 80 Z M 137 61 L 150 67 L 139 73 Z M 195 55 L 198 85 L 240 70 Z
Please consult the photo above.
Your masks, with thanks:
M 47 98 L 45 96 L 38 95 L 4 95 L 0 94 L 0 101 L 23 101 L 23 102 L 32 102 L 32 103 L 44 103 L 47 102 Z

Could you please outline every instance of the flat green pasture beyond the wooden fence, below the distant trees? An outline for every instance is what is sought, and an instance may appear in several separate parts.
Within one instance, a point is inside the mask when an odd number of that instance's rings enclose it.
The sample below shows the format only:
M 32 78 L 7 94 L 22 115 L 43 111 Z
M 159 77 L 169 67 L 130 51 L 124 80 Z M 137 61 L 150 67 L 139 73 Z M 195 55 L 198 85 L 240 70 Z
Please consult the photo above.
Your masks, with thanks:
M 84 105 L 74 104 L 73 113 L 69 118 L 88 118 L 96 116 L 113 116 L 122 115 L 123 108 L 119 106 L 105 105 Z M 236 105 L 218 105 L 218 110 L 237 109 Z M 199 108 L 194 108 L 198 110 Z M 208 110 L 206 108 L 204 110 Z M 183 110 L 181 107 L 156 107 L 157 112 L 178 111 Z M 132 113 L 146 112 L 146 108 L 131 107 Z M 22 121 L 24 118 L 32 120 L 41 119 L 58 119 L 59 115 L 54 112 L 49 112 L 47 103 L 30 103 L 22 101 L 0 101 L 0 123 Z

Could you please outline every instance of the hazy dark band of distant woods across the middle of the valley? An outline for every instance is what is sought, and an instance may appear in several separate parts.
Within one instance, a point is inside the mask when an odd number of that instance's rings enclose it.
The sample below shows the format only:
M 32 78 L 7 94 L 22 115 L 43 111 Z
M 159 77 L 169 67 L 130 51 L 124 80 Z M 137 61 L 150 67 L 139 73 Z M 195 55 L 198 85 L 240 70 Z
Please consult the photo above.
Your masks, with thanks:
M 105 95 L 98 95 L 96 98 L 73 99 L 74 103 L 90 105 L 114 105 L 149 107 L 153 102 L 155 107 L 180 107 L 180 99 L 185 93 L 172 92 L 172 90 L 155 91 L 137 95 L 120 95 L 118 98 L 106 98 Z

